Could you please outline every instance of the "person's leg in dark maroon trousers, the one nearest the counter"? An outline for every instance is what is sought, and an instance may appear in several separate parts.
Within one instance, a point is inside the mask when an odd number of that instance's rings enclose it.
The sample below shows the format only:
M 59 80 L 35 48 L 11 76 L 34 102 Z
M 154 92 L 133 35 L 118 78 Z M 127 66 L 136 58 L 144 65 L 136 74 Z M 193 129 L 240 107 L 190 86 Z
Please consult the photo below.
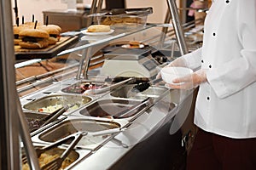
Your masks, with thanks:
M 187 158 L 187 170 L 218 170 L 220 167 L 213 150 L 212 133 L 199 128 Z

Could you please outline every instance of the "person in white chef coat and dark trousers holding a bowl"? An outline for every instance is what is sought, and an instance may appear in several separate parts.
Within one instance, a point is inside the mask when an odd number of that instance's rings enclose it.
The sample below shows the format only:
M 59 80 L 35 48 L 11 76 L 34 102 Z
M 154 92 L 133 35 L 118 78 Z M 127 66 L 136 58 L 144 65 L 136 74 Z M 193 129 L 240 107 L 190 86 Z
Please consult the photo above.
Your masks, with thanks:
M 171 88 L 200 86 L 187 168 L 256 169 L 256 1 L 212 0 L 202 47 L 167 66 L 194 70 Z

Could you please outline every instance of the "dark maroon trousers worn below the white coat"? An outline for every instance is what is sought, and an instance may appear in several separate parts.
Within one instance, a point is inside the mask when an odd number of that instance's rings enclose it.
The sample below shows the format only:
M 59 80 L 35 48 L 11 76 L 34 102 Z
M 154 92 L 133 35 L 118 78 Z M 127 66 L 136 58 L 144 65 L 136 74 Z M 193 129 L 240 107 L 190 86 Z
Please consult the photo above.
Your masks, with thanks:
M 256 138 L 230 139 L 199 128 L 189 152 L 187 170 L 256 169 Z

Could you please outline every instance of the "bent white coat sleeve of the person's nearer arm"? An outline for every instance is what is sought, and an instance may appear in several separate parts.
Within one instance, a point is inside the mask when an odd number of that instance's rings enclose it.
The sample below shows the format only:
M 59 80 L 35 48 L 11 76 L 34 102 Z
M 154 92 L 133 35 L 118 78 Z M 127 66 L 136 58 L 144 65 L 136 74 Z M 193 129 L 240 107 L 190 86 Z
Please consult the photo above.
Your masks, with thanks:
M 241 57 L 207 72 L 208 82 L 221 99 L 236 94 L 256 81 L 256 1 L 238 2 L 234 13 Z

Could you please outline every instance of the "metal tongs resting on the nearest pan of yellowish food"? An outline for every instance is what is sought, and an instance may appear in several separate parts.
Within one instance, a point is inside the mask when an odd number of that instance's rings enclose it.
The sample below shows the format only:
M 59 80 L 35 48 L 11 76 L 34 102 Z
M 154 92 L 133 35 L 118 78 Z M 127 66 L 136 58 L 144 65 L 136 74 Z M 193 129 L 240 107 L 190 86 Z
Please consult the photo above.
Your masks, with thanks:
M 71 140 L 73 140 L 73 142 L 71 144 L 69 144 L 67 149 L 62 153 L 62 155 L 60 157 L 55 158 L 55 160 L 53 160 L 53 161 L 49 161 L 49 163 L 45 164 L 41 169 L 57 170 L 57 169 L 61 168 L 62 162 L 67 158 L 67 156 L 73 150 L 75 145 L 79 143 L 79 140 L 86 134 L 87 134 L 86 132 L 73 133 L 73 134 L 67 136 L 66 138 L 57 140 L 53 144 L 49 144 L 47 146 L 44 146 L 43 148 L 36 148 L 37 156 L 40 157 L 41 154 L 44 153 L 46 150 L 53 149 L 61 144 L 66 144 L 67 142 L 70 142 Z M 26 163 L 26 161 L 27 161 L 26 156 L 22 157 L 22 162 L 24 164 Z

